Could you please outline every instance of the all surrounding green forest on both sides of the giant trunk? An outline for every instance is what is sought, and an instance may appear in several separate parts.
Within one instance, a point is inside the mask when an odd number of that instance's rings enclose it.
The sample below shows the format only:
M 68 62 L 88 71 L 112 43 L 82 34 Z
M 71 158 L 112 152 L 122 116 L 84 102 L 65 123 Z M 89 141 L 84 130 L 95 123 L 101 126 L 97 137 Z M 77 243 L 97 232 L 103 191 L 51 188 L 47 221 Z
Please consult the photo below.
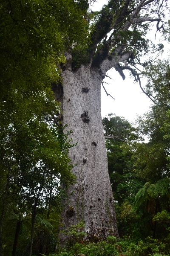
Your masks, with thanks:
M 144 70 L 148 113 L 135 124 L 103 119 L 120 239 L 85 243 L 79 223 L 58 245 L 60 183 L 76 181 L 67 156 L 76 145 L 63 134 L 51 84 L 61 83 L 69 44 L 88 38 L 84 2 L 0 1 L 0 256 L 170 255 L 168 57 Z

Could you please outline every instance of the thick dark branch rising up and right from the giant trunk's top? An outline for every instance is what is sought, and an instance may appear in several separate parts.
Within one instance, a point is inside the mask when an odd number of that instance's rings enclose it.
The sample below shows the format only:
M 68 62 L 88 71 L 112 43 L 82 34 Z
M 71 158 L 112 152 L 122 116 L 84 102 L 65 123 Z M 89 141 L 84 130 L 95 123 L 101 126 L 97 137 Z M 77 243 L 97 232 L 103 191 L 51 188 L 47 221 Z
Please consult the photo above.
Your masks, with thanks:
M 106 39 L 107 33 L 110 32 L 113 29 L 114 29 L 114 31 L 111 33 L 111 35 L 109 36 L 109 39 L 107 41 L 106 40 L 103 41 L 102 47 L 99 47 L 99 49 L 97 49 L 97 51 L 95 53 L 95 58 L 93 60 L 94 66 L 99 65 L 100 63 L 105 61 L 107 58 L 110 58 L 110 56 L 109 56 L 110 52 L 109 51 L 113 47 L 116 48 L 116 51 L 115 51 L 116 55 L 121 54 L 123 52 L 123 50 L 125 49 L 125 47 L 127 47 L 127 44 L 122 44 L 121 46 L 117 46 L 117 44 L 119 43 L 118 42 L 119 39 L 122 38 L 121 35 L 119 35 L 119 33 L 118 33 L 119 30 L 121 30 L 122 32 L 126 32 L 132 24 L 140 24 L 140 23 L 143 23 L 143 22 L 146 22 L 146 21 L 149 21 L 149 22 L 157 21 L 157 29 L 160 30 L 161 28 L 163 28 L 163 25 L 161 25 L 161 27 L 159 27 L 159 22 L 161 21 L 160 17 L 159 18 L 150 18 L 150 17 L 139 17 L 139 18 L 137 18 L 137 15 L 139 14 L 139 11 L 141 10 L 141 8 L 146 6 L 149 3 L 154 2 L 154 1 L 156 1 L 156 0 L 148 0 L 148 1 L 147 0 L 142 0 L 138 4 L 138 6 L 136 6 L 133 9 L 133 12 L 130 14 L 127 11 L 127 9 L 129 7 L 129 4 L 131 3 L 131 1 L 130 0 L 125 0 L 125 4 L 122 6 L 122 9 L 120 11 L 117 8 L 115 10 L 114 14 L 112 12 L 109 12 L 109 14 L 108 14 L 108 12 L 106 12 L 106 14 L 108 15 L 108 20 L 107 20 L 107 17 L 106 17 L 107 15 L 105 15 L 105 13 L 104 13 L 105 8 L 103 9 L 103 12 L 101 11 L 102 12 L 101 18 L 99 19 L 99 21 L 96 25 L 96 32 L 93 32 L 92 37 L 93 38 L 94 38 L 94 36 L 96 37 L 98 35 L 98 33 L 100 35 L 102 35 L 101 33 L 103 33 L 102 39 L 103 38 Z M 127 12 L 129 13 L 129 15 L 127 15 Z M 113 15 L 111 15 L 111 13 Z M 125 20 L 126 17 L 129 17 L 129 18 Z M 102 19 L 107 20 L 107 22 L 109 24 L 107 26 L 107 29 L 106 29 L 106 27 L 104 29 Z M 103 28 L 105 30 L 105 32 L 104 32 L 104 30 L 101 32 L 101 28 Z M 115 38 L 116 38 L 116 40 L 115 40 Z M 101 42 L 102 39 L 100 37 L 98 37 L 98 39 L 97 39 L 98 41 L 96 41 L 96 43 Z M 93 48 L 93 53 L 94 53 L 94 48 Z

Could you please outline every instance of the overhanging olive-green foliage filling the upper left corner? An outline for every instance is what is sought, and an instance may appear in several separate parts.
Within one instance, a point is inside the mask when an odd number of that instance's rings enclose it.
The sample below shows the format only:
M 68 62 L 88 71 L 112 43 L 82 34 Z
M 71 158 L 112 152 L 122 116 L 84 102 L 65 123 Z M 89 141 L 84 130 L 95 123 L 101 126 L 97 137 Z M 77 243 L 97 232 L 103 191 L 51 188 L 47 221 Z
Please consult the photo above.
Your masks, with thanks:
M 57 82 L 60 78 L 56 64 L 65 62 L 63 52 L 73 41 L 84 44 L 88 31 L 74 0 L 12 0 L 0 5 L 3 101 L 11 90 L 30 95 Z

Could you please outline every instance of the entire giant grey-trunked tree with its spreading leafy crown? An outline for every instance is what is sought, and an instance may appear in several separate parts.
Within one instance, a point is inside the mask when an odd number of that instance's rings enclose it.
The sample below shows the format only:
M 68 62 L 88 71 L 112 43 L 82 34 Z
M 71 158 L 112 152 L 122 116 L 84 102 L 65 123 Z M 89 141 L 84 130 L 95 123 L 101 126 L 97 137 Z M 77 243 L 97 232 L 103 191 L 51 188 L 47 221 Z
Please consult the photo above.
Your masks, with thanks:
M 150 47 L 145 36 L 154 24 L 155 32 L 165 31 L 167 7 L 159 0 L 109 0 L 101 11 L 88 12 L 88 1 L 78 2 L 89 38 L 87 44 L 74 42 L 60 65 L 63 123 L 77 143 L 69 153 L 77 183 L 68 188 L 62 219 L 64 227 L 84 221 L 86 238 L 96 240 L 119 236 L 100 113 L 101 83 L 115 68 L 122 79 L 124 70 L 129 70 L 141 86 L 139 65 L 147 64 L 141 57 L 162 48 L 161 44 Z

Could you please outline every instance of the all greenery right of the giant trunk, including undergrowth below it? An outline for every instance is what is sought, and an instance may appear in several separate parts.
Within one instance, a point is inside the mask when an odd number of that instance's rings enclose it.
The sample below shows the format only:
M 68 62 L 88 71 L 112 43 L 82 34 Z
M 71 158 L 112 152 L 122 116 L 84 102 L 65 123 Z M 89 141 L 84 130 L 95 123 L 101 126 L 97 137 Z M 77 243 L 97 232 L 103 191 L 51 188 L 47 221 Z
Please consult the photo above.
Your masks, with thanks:
M 68 230 L 70 243 L 57 255 L 170 255 L 169 59 L 147 67 L 146 76 L 151 110 L 133 125 L 113 114 L 103 119 L 120 239 L 86 243 L 82 223 Z

